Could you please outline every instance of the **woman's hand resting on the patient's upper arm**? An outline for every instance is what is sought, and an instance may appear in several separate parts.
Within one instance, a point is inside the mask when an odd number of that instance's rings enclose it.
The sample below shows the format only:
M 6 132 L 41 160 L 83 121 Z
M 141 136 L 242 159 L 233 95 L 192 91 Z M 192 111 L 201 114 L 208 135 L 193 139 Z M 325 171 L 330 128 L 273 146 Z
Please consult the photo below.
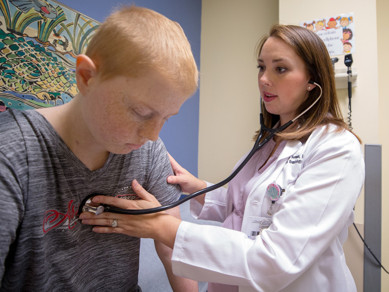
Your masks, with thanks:
M 175 175 L 167 178 L 168 183 L 178 183 L 182 191 L 189 194 L 207 187 L 206 182 L 199 180 L 185 168 L 181 167 L 170 154 L 169 159 Z

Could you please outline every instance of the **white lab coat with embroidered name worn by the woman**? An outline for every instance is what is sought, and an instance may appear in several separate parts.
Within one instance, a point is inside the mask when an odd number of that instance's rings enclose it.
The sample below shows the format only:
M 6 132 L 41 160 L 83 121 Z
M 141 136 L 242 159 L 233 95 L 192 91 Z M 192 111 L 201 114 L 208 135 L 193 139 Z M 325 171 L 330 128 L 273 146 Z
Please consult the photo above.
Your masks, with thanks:
M 238 285 L 239 292 L 356 292 L 342 245 L 354 221 L 365 168 L 361 146 L 348 131 L 315 130 L 305 143 L 289 141 L 248 196 L 242 232 L 182 222 L 173 272 L 197 281 Z M 249 239 L 248 217 L 267 216 L 269 183 L 285 193 L 273 205 L 273 224 Z M 286 187 L 285 187 L 286 186 Z M 232 211 L 226 189 L 191 201 L 198 219 L 223 221 Z

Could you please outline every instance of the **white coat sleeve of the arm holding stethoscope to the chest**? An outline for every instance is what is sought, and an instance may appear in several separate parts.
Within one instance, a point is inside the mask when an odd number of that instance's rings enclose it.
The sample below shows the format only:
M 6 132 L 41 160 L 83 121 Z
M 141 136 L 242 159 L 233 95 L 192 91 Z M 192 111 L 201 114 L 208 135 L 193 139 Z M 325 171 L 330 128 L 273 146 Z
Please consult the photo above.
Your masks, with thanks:
M 325 255 L 338 260 L 331 252 L 341 249 L 364 182 L 361 147 L 350 132 L 344 132 L 320 136 L 306 153 L 299 177 L 262 235 L 251 240 L 242 232 L 182 222 L 173 250 L 173 272 L 197 281 L 279 291 L 330 246 Z M 320 269 L 334 263 L 322 264 Z

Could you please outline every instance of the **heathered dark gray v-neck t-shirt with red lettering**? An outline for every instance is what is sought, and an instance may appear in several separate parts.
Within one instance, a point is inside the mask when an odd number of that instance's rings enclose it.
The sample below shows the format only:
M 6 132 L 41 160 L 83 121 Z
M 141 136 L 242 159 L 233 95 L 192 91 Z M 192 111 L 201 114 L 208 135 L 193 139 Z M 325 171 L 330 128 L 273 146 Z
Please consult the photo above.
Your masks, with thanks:
M 0 291 L 137 291 L 140 239 L 74 218 L 88 194 L 134 179 L 162 205 L 177 201 L 172 174 L 160 139 L 90 171 L 38 112 L 0 113 Z

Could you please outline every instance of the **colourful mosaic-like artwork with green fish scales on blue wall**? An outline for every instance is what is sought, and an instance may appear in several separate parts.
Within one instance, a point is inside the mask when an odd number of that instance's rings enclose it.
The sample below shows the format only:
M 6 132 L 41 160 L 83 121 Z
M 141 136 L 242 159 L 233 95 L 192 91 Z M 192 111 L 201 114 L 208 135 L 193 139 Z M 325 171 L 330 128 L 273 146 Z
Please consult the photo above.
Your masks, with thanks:
M 0 0 L 0 112 L 65 104 L 100 23 L 56 0 Z

